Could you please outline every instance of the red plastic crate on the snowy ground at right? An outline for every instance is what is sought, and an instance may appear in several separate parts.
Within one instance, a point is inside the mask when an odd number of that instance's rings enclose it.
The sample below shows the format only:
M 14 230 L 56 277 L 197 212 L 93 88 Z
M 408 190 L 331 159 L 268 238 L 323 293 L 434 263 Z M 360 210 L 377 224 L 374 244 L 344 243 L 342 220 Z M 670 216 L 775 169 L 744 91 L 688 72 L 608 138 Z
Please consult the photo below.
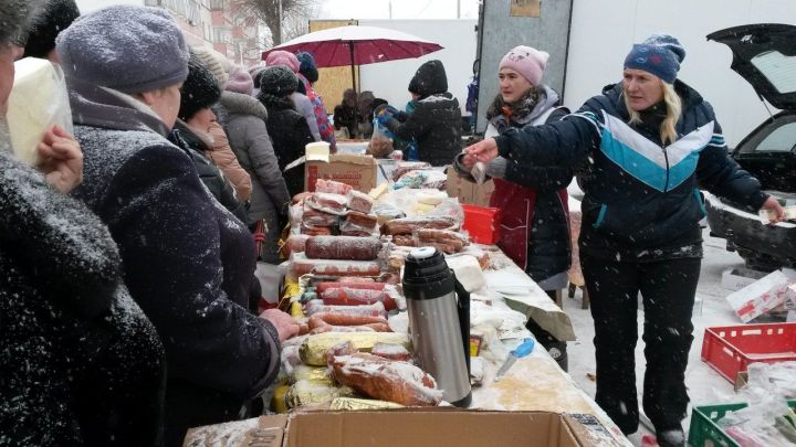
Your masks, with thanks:
M 702 361 L 731 383 L 753 362 L 796 360 L 796 323 L 740 324 L 706 328 Z

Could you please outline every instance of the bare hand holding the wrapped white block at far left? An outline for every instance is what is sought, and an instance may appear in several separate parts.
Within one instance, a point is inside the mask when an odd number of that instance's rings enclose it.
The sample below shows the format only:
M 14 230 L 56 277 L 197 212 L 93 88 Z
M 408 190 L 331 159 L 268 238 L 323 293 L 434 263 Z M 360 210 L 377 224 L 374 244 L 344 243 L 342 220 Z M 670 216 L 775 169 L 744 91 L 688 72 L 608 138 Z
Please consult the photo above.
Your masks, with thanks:
M 48 129 L 36 149 L 41 158 L 38 168 L 55 189 L 67 193 L 83 181 L 83 151 L 61 126 Z

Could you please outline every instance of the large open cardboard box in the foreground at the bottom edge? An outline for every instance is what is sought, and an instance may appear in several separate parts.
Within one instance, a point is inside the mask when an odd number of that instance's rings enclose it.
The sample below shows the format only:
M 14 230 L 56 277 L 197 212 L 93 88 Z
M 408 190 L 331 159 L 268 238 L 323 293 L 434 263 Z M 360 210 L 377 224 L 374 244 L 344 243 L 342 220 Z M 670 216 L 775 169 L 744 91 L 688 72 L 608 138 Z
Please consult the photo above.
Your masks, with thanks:
M 234 429 L 230 424 L 238 424 Z M 245 425 L 244 425 L 245 424 Z M 591 415 L 412 408 L 261 416 L 188 430 L 184 447 L 611 446 Z M 600 444 L 600 441 L 603 444 Z

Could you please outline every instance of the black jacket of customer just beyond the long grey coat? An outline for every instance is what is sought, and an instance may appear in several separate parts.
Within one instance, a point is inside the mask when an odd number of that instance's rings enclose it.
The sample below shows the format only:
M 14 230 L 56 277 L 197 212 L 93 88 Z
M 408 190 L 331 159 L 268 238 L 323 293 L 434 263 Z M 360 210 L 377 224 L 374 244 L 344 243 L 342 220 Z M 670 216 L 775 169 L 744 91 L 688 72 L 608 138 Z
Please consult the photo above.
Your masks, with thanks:
M 293 196 L 304 191 L 304 166 L 300 164 L 285 172 L 285 167 L 304 156 L 307 143 L 313 142 L 306 120 L 295 111 L 290 98 L 280 98 L 260 92 L 260 102 L 268 110 L 268 131 L 279 160 L 280 171 Z

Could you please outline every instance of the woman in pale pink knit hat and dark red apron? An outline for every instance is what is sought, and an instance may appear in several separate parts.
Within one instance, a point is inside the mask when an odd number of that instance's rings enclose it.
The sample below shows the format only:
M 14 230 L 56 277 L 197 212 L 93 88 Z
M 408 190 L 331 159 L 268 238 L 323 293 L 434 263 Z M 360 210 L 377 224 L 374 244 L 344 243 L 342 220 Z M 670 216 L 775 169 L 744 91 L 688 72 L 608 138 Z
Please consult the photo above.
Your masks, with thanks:
M 500 93 L 486 109 L 485 138 L 505 132 L 510 127 L 556 121 L 568 114 L 569 110 L 559 107 L 558 94 L 542 83 L 548 57 L 546 52 L 525 45 L 515 46 L 503 56 L 498 71 Z M 453 167 L 465 179 L 474 181 L 470 169 L 462 163 L 463 157 L 464 153 L 460 153 Z M 566 188 L 573 170 L 534 166 L 528 168 L 532 173 L 514 182 L 505 179 L 509 162 L 498 157 L 484 167 L 486 175 L 494 181 L 490 206 L 503 210 L 498 246 L 555 299 L 556 290 L 568 283 L 570 241 Z M 566 371 L 566 342 L 556 340 L 533 320 L 528 320 L 527 327 Z

